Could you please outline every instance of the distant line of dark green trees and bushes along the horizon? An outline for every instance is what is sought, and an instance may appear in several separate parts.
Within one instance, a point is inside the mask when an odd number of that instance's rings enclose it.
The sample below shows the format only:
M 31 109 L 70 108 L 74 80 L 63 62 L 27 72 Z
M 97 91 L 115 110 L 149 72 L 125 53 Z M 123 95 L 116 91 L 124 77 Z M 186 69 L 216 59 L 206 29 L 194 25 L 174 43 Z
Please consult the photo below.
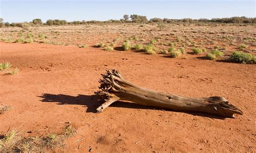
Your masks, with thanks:
M 146 16 L 140 15 L 124 15 L 120 20 L 110 19 L 107 21 L 97 21 L 97 20 L 89 20 L 89 21 L 73 21 L 67 22 L 66 20 L 60 19 L 48 19 L 45 23 L 42 22 L 41 19 L 33 19 L 32 22 L 23 22 L 23 23 L 8 23 L 3 22 L 3 18 L 0 18 L 0 27 L 8 27 L 8 26 L 17 26 L 17 27 L 26 27 L 33 25 L 79 25 L 79 24 L 97 24 L 97 23 L 244 23 L 244 24 L 254 24 L 256 23 L 256 18 L 248 18 L 248 17 L 230 17 L 230 18 L 212 18 L 212 19 L 168 19 L 168 18 L 151 18 L 147 19 Z

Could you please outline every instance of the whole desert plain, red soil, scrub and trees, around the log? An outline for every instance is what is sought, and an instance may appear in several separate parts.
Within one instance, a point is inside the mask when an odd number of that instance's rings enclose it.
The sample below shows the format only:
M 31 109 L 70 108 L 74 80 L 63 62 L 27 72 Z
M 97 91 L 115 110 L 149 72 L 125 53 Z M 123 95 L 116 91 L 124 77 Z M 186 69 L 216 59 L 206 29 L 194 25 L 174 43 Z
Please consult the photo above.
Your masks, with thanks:
M 255 33 L 242 17 L 3 23 L 0 152 L 253 152 Z M 246 115 L 118 101 L 96 114 L 97 80 L 110 68 L 157 91 L 223 95 Z

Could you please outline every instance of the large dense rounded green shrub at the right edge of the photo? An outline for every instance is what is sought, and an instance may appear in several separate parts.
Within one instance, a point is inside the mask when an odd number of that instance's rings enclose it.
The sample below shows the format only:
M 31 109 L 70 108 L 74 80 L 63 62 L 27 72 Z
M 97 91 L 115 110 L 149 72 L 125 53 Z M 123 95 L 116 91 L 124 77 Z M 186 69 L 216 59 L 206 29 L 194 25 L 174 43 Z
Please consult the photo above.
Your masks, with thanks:
M 231 62 L 238 63 L 256 63 L 256 57 L 250 53 L 242 53 L 242 52 L 233 52 L 230 55 L 229 60 Z

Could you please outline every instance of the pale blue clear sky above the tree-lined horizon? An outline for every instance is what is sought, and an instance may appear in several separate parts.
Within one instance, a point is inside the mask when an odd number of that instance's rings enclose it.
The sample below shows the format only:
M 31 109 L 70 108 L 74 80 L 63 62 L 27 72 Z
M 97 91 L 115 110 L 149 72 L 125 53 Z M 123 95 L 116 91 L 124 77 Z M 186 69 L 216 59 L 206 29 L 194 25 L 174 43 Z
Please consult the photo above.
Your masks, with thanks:
M 4 22 L 40 18 L 73 20 L 121 19 L 127 15 L 159 18 L 255 17 L 255 0 L 0 0 Z

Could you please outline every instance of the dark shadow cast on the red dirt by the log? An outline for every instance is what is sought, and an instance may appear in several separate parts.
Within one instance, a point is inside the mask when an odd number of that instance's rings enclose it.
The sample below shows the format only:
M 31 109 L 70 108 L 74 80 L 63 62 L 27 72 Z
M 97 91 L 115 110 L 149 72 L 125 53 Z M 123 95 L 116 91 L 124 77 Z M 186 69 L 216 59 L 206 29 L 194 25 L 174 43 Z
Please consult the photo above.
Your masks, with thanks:
M 104 103 L 104 101 L 100 98 L 99 95 L 81 95 L 78 94 L 77 96 L 71 95 L 64 95 L 64 94 L 48 94 L 44 93 L 41 96 L 42 102 L 55 102 L 58 105 L 83 105 L 87 107 L 87 113 L 97 113 L 97 108 Z M 153 106 L 143 106 L 133 102 L 125 102 L 125 101 L 116 101 L 112 103 L 109 107 L 120 107 L 120 108 L 130 108 L 130 109 L 151 109 L 151 110 L 163 110 L 163 111 L 170 111 L 170 112 L 178 112 L 172 109 L 167 108 L 159 108 Z M 225 117 L 212 115 L 207 113 L 200 113 L 200 112 L 182 112 L 186 114 L 191 114 L 194 116 L 202 116 L 202 117 L 209 117 L 212 119 L 221 119 L 224 120 Z

